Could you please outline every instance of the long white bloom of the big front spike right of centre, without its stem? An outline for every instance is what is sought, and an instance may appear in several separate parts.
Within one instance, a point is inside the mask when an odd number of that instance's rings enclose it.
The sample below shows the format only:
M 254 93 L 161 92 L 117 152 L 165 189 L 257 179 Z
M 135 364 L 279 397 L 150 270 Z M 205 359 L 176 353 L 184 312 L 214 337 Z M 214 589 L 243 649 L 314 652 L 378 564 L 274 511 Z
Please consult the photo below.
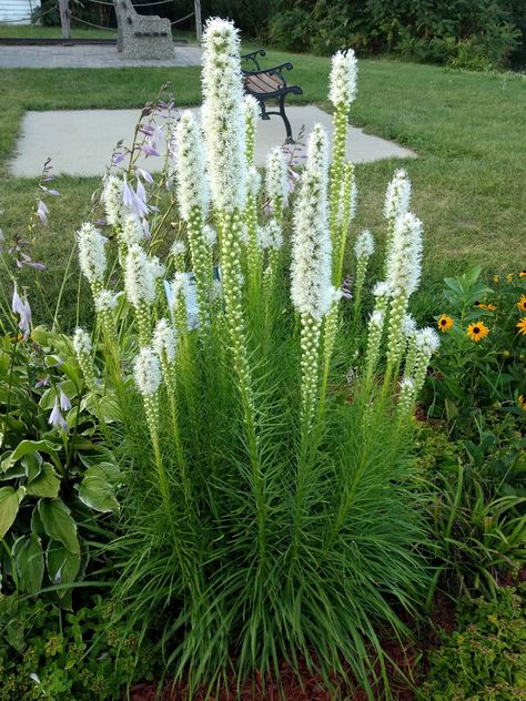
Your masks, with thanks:
M 323 162 L 326 152 L 323 140 L 317 143 L 321 152 L 307 159 L 294 211 L 291 297 L 297 312 L 320 321 L 333 304 L 334 288 Z

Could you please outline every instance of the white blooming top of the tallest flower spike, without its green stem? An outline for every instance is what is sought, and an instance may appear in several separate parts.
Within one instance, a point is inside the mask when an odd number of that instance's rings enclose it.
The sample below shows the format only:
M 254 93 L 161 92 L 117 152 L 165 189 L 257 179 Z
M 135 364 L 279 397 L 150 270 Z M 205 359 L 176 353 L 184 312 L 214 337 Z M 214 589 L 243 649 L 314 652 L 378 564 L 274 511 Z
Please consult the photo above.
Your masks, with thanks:
M 233 22 L 211 18 L 203 33 L 203 132 L 215 207 L 232 212 L 246 197 L 240 38 Z

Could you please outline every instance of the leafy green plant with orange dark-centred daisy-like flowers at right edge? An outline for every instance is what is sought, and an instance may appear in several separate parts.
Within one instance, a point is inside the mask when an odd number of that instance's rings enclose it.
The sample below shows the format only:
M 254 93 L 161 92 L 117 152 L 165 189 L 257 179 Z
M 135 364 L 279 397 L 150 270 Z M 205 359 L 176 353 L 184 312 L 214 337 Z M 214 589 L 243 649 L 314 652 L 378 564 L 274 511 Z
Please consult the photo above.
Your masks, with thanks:
M 429 385 L 432 416 L 445 417 L 454 435 L 471 433 L 482 409 L 502 407 L 523 424 L 526 413 L 526 276 L 495 276 L 492 289 L 479 282 L 481 268 L 446 278 L 446 306 L 437 318 L 443 332 Z

